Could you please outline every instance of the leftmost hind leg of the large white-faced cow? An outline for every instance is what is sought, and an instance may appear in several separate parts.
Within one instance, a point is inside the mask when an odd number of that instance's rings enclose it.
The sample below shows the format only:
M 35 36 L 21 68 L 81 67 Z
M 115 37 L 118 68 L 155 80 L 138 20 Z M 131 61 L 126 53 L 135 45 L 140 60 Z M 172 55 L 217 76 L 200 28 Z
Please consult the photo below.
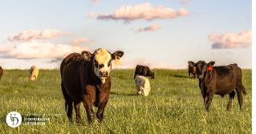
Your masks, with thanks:
M 66 88 L 64 87 L 63 85 L 63 82 L 61 83 L 61 88 L 62 88 L 62 91 L 63 91 L 63 96 L 64 96 L 64 99 L 65 99 L 65 110 L 66 110 L 66 113 L 67 113 L 67 117 L 68 117 L 68 120 L 72 122 L 73 118 L 72 118 L 72 111 L 73 111 L 73 99 L 71 98 L 70 95 L 67 94 L 67 91 L 66 91 Z

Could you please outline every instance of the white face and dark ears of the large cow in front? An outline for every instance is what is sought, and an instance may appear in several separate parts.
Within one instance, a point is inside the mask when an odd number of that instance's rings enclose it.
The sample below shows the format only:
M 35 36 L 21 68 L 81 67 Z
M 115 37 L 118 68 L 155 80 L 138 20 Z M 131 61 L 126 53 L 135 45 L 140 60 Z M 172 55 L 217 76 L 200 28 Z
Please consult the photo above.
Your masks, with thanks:
M 83 55 L 86 55 L 86 59 L 91 59 L 94 67 L 95 75 L 97 75 L 101 83 L 105 83 L 105 79 L 109 77 L 113 59 L 120 59 L 123 55 L 123 51 L 116 51 L 113 54 L 106 51 L 104 48 L 97 49 L 93 54 L 89 51 L 83 51 Z

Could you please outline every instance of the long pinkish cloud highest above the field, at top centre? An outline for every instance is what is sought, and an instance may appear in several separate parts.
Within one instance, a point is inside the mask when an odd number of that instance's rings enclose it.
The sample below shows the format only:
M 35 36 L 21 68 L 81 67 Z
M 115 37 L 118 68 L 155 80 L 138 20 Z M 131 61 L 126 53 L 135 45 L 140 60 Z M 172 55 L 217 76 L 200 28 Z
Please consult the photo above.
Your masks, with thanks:
M 137 19 L 153 20 L 156 18 L 177 18 L 178 16 L 189 16 L 187 10 L 181 8 L 177 12 L 171 8 L 164 8 L 159 5 L 155 8 L 148 2 L 136 6 L 122 6 L 120 9 L 116 9 L 114 14 L 101 13 L 97 16 L 98 19 L 112 19 L 112 20 L 124 20 L 124 22 L 130 22 Z

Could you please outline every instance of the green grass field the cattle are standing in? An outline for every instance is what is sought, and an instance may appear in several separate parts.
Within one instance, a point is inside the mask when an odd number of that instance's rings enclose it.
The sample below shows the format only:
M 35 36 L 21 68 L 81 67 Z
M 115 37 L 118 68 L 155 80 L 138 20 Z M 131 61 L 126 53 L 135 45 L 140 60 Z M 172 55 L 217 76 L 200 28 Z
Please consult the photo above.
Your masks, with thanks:
M 251 69 L 242 69 L 242 83 L 247 91 L 243 95 L 243 112 L 239 110 L 237 94 L 230 112 L 226 110 L 229 95 L 214 95 L 210 112 L 206 112 L 198 79 L 188 78 L 185 69 L 152 69 L 156 79 L 148 78 L 149 95 L 136 95 L 134 71 L 112 70 L 104 121 L 88 125 L 82 105 L 83 122 L 68 122 L 59 70 L 39 70 L 37 81 L 30 81 L 29 70 L 4 70 L 0 81 L 0 133 L 252 133 Z M 18 128 L 6 124 L 9 112 L 22 115 Z M 75 110 L 73 116 L 75 119 Z M 44 121 L 45 125 L 25 125 L 26 117 L 51 120 Z

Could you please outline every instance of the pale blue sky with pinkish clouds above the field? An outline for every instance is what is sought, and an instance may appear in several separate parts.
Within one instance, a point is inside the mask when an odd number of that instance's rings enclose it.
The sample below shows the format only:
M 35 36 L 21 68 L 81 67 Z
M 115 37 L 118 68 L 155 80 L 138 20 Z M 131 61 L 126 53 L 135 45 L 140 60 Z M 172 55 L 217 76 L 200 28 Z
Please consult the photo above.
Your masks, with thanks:
M 0 0 L 0 66 L 59 68 L 73 52 L 124 51 L 113 68 L 252 68 L 249 0 Z

